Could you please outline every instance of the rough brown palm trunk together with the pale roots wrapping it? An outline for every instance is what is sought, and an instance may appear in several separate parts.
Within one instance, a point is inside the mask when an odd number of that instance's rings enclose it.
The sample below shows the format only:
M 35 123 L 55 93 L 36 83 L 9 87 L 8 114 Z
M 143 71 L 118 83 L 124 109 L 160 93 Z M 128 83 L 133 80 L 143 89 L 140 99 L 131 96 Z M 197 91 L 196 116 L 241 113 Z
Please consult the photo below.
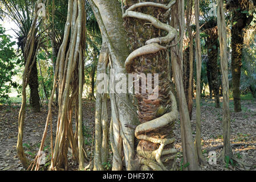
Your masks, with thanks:
M 141 170 L 176 169 L 173 127 L 177 117 L 177 105 L 176 99 L 171 92 L 169 67 L 166 67 L 169 63 L 169 53 L 168 51 L 160 50 L 153 54 L 153 52 L 146 50 L 142 55 L 140 53 L 136 55 L 136 51 L 143 48 L 147 49 L 153 44 L 149 42 L 153 42 L 155 39 L 162 39 L 158 37 L 166 35 L 165 31 L 157 29 L 162 28 L 157 27 L 156 24 L 168 21 L 170 7 L 164 9 L 156 6 L 167 5 L 168 2 L 160 1 L 149 5 L 149 3 L 146 4 L 144 2 L 126 1 L 126 7 L 129 7 L 129 9 L 124 14 L 125 30 L 127 30 L 129 37 L 130 56 L 135 54 L 134 61 L 133 59 L 129 60 L 129 57 L 127 58 L 126 63 L 131 61 L 131 64 L 127 66 L 127 71 L 139 74 L 142 77 L 142 80 L 139 81 L 139 77 L 135 76 L 135 85 L 136 83 L 143 84 L 143 80 L 144 82 L 149 81 L 156 84 L 154 78 L 147 77 L 148 73 L 151 73 L 152 76 L 159 74 L 160 78 L 159 87 L 154 85 L 154 90 L 157 89 L 159 97 L 151 98 L 152 93 L 149 90 L 143 93 L 143 89 L 145 89 L 143 85 L 139 89 L 140 92 L 135 92 L 141 123 L 136 127 L 135 131 L 136 138 L 140 140 L 137 146 L 137 158 L 140 161 Z M 136 6 L 137 9 L 133 8 Z M 151 19 L 155 19 L 157 23 Z M 152 24 L 149 24 L 149 22 Z M 172 29 L 174 30 L 174 28 Z M 175 35 L 173 34 L 172 40 Z M 145 42 L 147 42 L 148 46 L 144 46 Z M 163 40 L 160 44 L 166 45 L 168 43 Z M 152 85 L 148 86 L 152 88 Z M 163 123 L 165 124 L 163 125 Z M 160 142 L 161 139 L 162 142 Z

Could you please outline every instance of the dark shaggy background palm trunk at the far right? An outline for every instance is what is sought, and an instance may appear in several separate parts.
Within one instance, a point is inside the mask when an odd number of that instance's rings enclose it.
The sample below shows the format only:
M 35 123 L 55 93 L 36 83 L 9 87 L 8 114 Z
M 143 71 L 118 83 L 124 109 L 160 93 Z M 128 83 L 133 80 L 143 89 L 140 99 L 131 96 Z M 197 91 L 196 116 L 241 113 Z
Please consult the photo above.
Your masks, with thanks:
M 231 18 L 231 69 L 235 112 L 240 112 L 242 110 L 240 79 L 244 41 L 243 30 L 249 26 L 253 20 L 255 5 L 255 0 L 229 0 L 226 5 L 226 9 L 229 10 Z

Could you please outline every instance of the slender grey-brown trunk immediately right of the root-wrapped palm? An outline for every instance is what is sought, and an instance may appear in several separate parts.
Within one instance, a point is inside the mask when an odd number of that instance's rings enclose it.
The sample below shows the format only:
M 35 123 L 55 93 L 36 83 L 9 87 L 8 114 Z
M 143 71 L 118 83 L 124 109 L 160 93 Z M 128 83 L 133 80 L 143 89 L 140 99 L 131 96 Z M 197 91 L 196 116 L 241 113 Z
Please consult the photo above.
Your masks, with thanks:
M 181 4 L 180 4 L 181 3 Z M 180 6 L 181 5 L 181 6 Z M 176 6 L 172 9 L 172 26 L 174 28 L 178 28 L 178 19 L 180 16 L 177 17 L 178 14 L 181 14 L 181 9 L 184 8 L 184 4 L 182 2 L 176 2 Z M 184 14 L 181 16 L 184 17 Z M 182 29 L 184 27 L 180 27 Z M 183 37 L 183 35 L 181 34 Z M 177 42 L 177 38 L 176 38 Z M 180 44 L 182 47 L 182 43 Z M 177 46 L 172 47 L 172 70 L 174 75 L 174 80 L 177 89 L 177 95 L 179 100 L 179 107 L 180 107 L 180 119 L 181 119 L 181 140 L 182 140 L 182 154 L 184 164 L 188 164 L 189 170 L 198 170 L 198 164 L 196 161 L 196 154 L 194 152 L 193 146 L 193 138 L 192 138 L 192 128 L 190 124 L 189 112 L 188 112 L 188 105 L 186 104 L 186 97 L 184 93 L 183 81 L 182 81 L 182 52 L 178 51 Z

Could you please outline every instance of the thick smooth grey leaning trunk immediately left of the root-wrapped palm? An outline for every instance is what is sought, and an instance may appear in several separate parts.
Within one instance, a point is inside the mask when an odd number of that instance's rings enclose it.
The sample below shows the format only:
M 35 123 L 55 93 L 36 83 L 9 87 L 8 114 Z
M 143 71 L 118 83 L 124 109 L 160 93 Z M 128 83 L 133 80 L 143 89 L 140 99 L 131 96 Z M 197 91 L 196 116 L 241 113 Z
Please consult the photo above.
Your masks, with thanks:
M 89 2 L 108 46 L 112 72 L 114 72 L 114 76 L 125 75 L 127 72 L 124 68 L 124 61 L 128 56 L 128 48 L 119 3 L 117 0 L 114 2 L 90 0 Z M 113 150 L 112 148 L 112 170 L 121 170 L 123 166 L 128 170 L 134 170 L 137 166 L 134 161 L 134 130 L 125 127 L 125 124 L 137 125 L 137 116 L 133 110 L 132 102 L 129 100 L 128 89 L 126 93 L 116 93 L 115 84 L 113 82 L 112 84 L 110 85 L 112 119 L 109 137 L 111 138 L 111 146 L 117 149 Z M 120 158 L 120 152 L 124 155 L 124 162 Z

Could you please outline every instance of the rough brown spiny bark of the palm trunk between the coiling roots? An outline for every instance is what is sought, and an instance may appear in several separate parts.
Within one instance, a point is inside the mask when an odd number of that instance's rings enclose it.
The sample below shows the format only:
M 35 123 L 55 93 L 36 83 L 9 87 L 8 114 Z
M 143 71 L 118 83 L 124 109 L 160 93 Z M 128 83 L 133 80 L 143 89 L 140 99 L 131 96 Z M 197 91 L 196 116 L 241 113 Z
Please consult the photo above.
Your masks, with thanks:
M 132 5 L 135 5 L 135 3 L 137 3 L 137 1 L 127 1 L 127 6 L 131 7 Z M 162 0 L 158 3 L 167 5 L 169 1 Z M 132 11 L 154 16 L 155 18 L 159 19 L 160 22 L 168 21 L 169 17 L 165 16 L 166 10 L 151 6 L 139 7 L 138 9 Z M 165 31 L 155 28 L 149 24 L 147 20 L 141 20 L 139 18 L 127 18 L 124 21 L 125 29 L 127 30 L 129 37 L 128 43 L 130 45 L 130 52 L 143 47 L 145 42 L 147 42 L 149 39 L 166 36 Z M 141 91 L 144 89 L 142 87 L 140 87 L 140 93 L 135 95 L 138 101 L 137 108 L 140 123 L 143 125 L 148 124 L 149 126 L 148 130 L 145 130 L 143 133 L 136 132 L 136 137 L 140 139 L 137 146 L 137 158 L 139 158 L 141 164 L 140 169 L 175 169 L 176 163 L 174 156 L 176 154 L 176 150 L 174 149 L 174 120 L 168 123 L 168 125 L 165 127 L 160 127 L 159 129 L 151 130 L 150 127 L 152 125 L 151 122 L 153 123 L 153 121 L 157 121 L 156 119 L 170 113 L 170 111 L 173 111 L 174 108 L 172 107 L 172 104 L 174 104 L 174 102 L 176 104 L 176 101 L 171 100 L 173 94 L 171 92 L 169 80 L 169 67 L 167 66 L 169 63 L 169 53 L 168 51 L 162 50 L 156 53 L 139 56 L 133 61 L 134 63 L 131 66 L 131 72 L 139 75 L 145 74 L 143 77 L 145 80 L 148 81 L 148 78 L 146 78 L 148 73 L 152 73 L 152 76 L 154 76 L 154 74 L 159 74 L 159 88 L 157 90 L 159 92 L 159 97 L 156 100 L 151 100 L 150 97 L 152 94 L 149 93 L 148 90 L 146 93 L 141 93 Z M 154 81 L 156 80 L 152 79 L 152 84 Z M 140 126 L 142 125 L 139 125 L 136 131 L 140 129 Z M 156 140 L 172 140 L 172 142 L 162 145 L 161 143 L 155 142 Z M 162 150 L 160 149 L 161 147 Z M 171 152 L 166 152 L 166 154 L 164 154 L 162 151 Z M 160 156 L 154 155 L 157 152 L 160 152 Z

